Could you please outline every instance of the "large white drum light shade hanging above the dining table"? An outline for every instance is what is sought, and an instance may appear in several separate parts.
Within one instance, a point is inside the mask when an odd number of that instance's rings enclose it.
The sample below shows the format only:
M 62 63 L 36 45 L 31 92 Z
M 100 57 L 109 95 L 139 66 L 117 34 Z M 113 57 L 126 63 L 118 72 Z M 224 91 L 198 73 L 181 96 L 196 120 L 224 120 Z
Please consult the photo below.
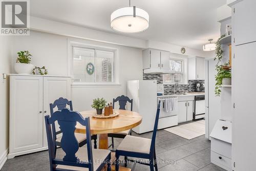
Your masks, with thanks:
M 149 18 L 141 8 L 119 8 L 111 14 L 111 28 L 122 33 L 139 33 L 148 28 Z

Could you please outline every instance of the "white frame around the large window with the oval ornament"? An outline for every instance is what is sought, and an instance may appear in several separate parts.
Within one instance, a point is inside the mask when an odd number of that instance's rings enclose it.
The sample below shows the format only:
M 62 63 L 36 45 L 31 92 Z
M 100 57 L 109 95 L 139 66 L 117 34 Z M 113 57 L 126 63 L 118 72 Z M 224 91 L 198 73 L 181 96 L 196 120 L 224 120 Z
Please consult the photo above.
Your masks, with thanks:
M 119 49 L 117 48 L 112 48 L 112 47 L 104 47 L 104 46 L 98 46 L 98 45 L 91 45 L 91 44 L 84 44 L 82 42 L 77 42 L 77 41 L 69 41 L 68 44 L 68 51 L 69 51 L 69 61 L 68 61 L 68 66 L 69 66 L 69 73 L 70 76 L 72 77 L 72 80 L 74 79 L 74 74 L 73 74 L 73 47 L 78 47 L 78 48 L 87 48 L 87 49 L 94 49 L 96 50 L 102 50 L 102 51 L 110 51 L 114 53 L 114 82 L 73 82 L 72 81 L 72 87 L 113 87 L 113 86 L 121 86 L 119 80 Z M 79 59 L 76 59 L 79 60 Z

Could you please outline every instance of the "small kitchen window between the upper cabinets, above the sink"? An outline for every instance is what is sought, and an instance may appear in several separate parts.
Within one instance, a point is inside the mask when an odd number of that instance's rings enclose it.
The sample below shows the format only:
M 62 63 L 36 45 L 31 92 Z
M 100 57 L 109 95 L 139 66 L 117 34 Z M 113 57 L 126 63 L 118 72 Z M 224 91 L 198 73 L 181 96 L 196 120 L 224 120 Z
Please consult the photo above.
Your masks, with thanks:
M 183 60 L 170 59 L 170 70 L 173 74 L 163 74 L 163 83 L 183 83 Z

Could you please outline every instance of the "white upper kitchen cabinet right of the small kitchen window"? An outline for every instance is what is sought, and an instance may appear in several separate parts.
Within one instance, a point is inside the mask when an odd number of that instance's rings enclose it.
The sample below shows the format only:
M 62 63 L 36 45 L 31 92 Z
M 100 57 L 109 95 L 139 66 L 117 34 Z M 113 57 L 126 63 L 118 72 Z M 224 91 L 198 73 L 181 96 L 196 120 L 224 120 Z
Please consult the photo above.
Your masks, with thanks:
M 189 57 L 188 58 L 188 79 L 205 79 L 204 71 L 204 58 L 203 57 Z

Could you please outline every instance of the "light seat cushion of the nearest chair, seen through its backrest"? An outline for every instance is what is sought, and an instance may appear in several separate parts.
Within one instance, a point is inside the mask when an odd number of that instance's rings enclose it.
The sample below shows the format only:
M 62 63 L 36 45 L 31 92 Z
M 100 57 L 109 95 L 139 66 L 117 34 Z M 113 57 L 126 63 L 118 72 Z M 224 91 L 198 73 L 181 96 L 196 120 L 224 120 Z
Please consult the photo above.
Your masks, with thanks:
M 93 170 L 97 170 L 100 164 L 105 160 L 106 157 L 111 153 L 108 149 L 92 149 L 93 151 Z M 81 161 L 81 163 L 88 161 L 88 153 L 87 146 L 80 147 L 76 153 L 77 158 Z M 57 165 L 56 168 L 61 169 L 70 169 L 70 170 L 78 170 L 84 171 L 89 170 L 84 167 L 76 167 L 76 166 L 67 166 L 67 165 Z

